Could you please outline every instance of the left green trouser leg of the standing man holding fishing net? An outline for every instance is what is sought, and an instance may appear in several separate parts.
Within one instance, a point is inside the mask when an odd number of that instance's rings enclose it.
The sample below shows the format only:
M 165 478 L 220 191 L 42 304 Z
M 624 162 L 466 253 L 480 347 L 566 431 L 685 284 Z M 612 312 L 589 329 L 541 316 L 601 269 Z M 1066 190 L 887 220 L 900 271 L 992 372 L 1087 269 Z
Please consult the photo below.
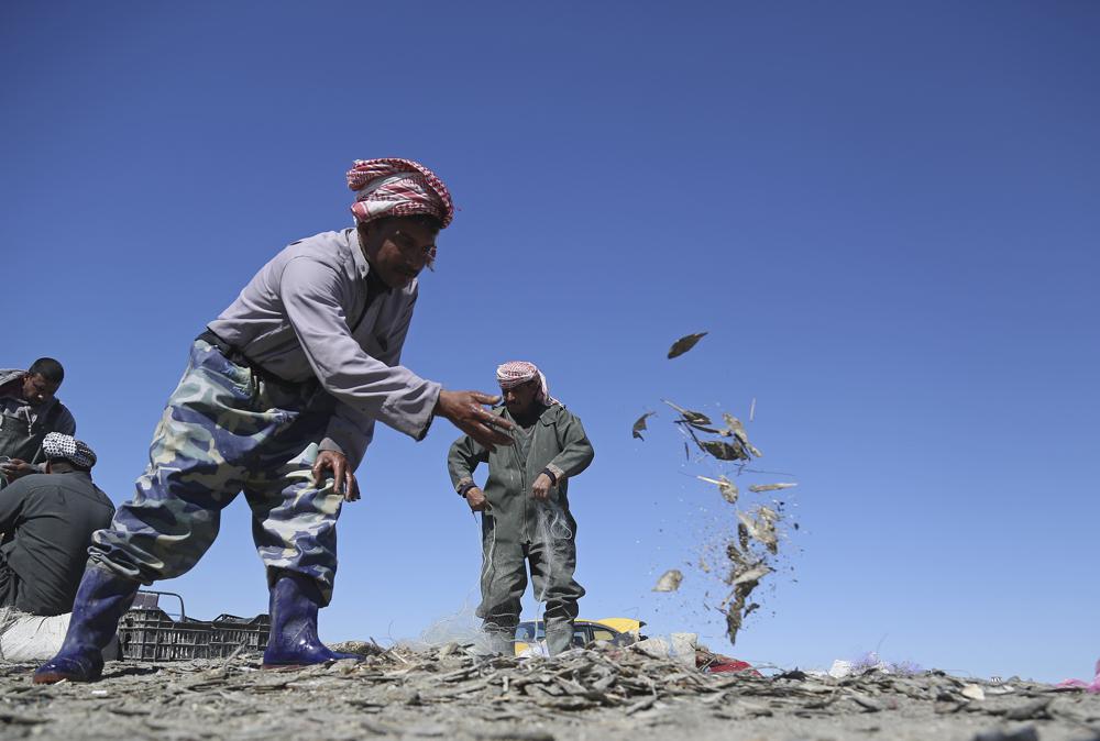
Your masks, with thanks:
M 527 589 L 527 563 L 516 533 L 498 533 L 496 518 L 482 513 L 482 601 L 477 617 L 484 622 L 487 648 L 493 653 L 515 655 L 520 600 Z

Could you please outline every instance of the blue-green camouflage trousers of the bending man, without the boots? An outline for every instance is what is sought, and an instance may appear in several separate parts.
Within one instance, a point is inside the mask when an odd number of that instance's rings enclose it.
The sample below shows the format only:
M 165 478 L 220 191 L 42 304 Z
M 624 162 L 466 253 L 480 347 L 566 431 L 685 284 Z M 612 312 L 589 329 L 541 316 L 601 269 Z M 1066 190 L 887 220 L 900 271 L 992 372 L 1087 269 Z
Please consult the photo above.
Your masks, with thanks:
M 310 477 L 334 400 L 319 385 L 279 384 L 228 361 L 204 339 L 154 433 L 132 501 L 92 535 L 91 561 L 151 584 L 190 569 L 218 534 L 221 510 L 244 491 L 252 535 L 273 585 L 282 569 L 332 597 L 343 497 Z

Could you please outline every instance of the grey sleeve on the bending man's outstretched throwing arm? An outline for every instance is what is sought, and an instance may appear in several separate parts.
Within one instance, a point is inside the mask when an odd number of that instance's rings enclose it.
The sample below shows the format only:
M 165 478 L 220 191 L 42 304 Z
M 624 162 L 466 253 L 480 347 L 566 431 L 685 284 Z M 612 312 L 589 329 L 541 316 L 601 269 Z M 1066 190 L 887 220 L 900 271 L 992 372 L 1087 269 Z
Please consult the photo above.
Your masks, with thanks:
M 279 292 L 301 350 L 326 391 L 351 408 L 353 414 L 380 420 L 413 438 L 427 431 L 439 398 L 440 385 L 408 368 L 388 366 L 369 355 L 351 335 L 337 272 L 307 257 L 296 257 L 284 268 Z M 343 413 L 349 421 L 353 414 Z M 349 436 L 341 446 L 362 454 L 366 431 L 342 424 Z

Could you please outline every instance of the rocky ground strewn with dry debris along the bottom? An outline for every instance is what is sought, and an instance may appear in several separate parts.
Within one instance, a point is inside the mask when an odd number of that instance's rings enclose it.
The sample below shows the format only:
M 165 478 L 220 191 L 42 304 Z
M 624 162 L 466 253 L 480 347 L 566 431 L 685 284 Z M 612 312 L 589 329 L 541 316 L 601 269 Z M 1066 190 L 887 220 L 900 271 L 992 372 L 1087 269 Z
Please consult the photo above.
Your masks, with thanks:
M 1014 679 L 706 674 L 612 648 L 552 660 L 366 648 L 362 663 L 300 671 L 263 671 L 255 654 L 111 662 L 101 682 L 54 686 L 6 664 L 0 738 L 1100 741 L 1100 695 Z

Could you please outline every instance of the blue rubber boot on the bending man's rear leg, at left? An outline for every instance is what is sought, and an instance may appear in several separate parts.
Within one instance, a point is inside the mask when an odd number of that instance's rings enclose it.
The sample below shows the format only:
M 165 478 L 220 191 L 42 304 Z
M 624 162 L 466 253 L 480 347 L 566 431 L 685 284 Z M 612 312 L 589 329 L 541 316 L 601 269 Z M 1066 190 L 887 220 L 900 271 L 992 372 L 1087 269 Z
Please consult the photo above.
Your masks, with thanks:
M 38 667 L 34 684 L 98 679 L 103 673 L 103 649 L 114 638 L 119 619 L 130 609 L 139 586 L 133 579 L 89 565 L 73 602 L 73 618 L 62 650 Z

